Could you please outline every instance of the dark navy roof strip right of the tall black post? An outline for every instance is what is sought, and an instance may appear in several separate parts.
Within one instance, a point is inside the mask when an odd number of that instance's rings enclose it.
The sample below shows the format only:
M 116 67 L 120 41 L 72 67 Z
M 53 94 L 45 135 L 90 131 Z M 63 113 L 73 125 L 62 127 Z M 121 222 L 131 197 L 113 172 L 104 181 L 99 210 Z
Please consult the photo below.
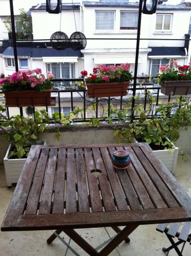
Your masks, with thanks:
M 185 56 L 184 47 L 149 47 L 151 51 L 148 56 L 162 56 L 162 55 L 172 55 L 172 56 Z

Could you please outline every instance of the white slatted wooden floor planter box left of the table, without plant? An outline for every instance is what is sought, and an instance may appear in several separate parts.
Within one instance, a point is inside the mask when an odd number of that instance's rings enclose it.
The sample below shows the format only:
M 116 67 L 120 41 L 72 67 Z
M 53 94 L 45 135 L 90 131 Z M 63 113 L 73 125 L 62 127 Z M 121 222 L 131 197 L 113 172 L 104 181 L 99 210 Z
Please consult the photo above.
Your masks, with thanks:
M 6 173 L 7 186 L 12 186 L 12 183 L 17 183 L 18 178 L 21 175 L 23 166 L 27 158 L 22 159 L 8 159 L 8 155 L 11 152 L 12 145 L 9 144 L 6 156 L 3 158 L 4 171 Z

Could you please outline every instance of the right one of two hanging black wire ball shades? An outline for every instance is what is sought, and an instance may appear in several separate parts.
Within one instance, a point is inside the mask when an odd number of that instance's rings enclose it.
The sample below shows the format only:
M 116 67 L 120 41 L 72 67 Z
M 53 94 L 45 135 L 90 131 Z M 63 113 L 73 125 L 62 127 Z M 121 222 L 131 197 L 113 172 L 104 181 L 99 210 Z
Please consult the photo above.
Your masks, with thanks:
M 74 32 L 70 36 L 70 47 L 73 50 L 83 50 L 87 44 L 86 37 L 81 32 Z

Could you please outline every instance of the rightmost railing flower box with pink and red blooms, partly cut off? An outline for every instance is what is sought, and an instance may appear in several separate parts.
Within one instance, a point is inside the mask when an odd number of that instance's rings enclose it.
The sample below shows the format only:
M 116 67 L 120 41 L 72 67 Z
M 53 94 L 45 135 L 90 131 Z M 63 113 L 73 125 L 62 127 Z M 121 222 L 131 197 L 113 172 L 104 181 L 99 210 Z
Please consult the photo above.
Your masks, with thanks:
M 171 66 L 159 67 L 161 93 L 165 95 L 191 94 L 191 62 L 189 65 L 178 65 L 174 60 Z

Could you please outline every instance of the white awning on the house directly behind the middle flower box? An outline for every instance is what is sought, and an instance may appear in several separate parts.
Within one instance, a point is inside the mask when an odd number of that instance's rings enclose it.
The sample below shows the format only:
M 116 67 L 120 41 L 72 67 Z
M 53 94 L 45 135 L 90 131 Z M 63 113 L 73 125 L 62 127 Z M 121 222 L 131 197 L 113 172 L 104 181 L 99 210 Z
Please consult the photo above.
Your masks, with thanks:
M 138 63 L 140 63 L 140 58 Z M 135 57 L 94 57 L 95 64 L 135 63 Z

